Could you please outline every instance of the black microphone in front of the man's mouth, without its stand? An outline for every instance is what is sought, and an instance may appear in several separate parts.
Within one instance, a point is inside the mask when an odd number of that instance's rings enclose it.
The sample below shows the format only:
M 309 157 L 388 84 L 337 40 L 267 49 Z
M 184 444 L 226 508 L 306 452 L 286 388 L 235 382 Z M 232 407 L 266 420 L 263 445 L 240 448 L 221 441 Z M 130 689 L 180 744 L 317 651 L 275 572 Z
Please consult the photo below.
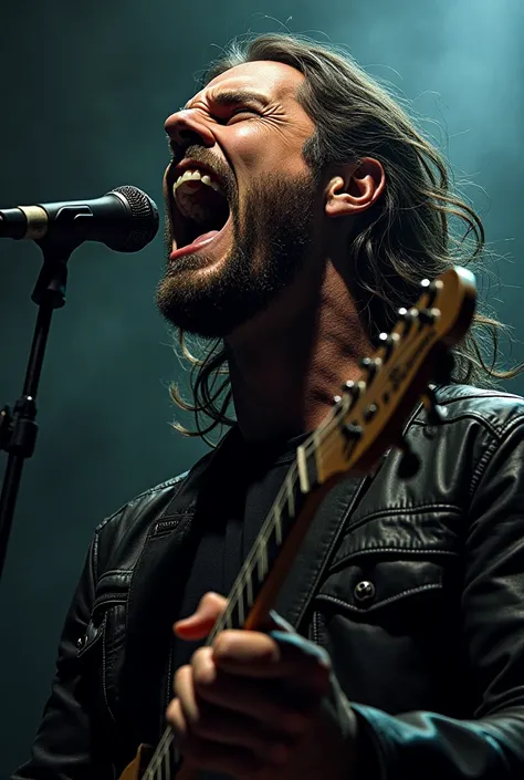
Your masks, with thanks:
M 102 198 L 69 200 L 0 209 L 0 238 L 44 237 L 72 242 L 101 241 L 117 252 L 137 252 L 158 230 L 158 209 L 151 198 L 126 185 Z

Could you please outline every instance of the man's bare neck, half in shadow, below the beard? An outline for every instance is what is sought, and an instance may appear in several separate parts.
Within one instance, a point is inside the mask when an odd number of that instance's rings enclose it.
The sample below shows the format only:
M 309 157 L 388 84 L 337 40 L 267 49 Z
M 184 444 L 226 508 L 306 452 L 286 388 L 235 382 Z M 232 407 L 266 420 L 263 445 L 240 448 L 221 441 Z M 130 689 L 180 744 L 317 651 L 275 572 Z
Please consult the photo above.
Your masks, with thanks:
M 247 439 L 316 428 L 340 385 L 360 374 L 359 358 L 373 351 L 334 264 L 326 263 L 322 279 L 308 275 L 227 340 L 237 419 Z

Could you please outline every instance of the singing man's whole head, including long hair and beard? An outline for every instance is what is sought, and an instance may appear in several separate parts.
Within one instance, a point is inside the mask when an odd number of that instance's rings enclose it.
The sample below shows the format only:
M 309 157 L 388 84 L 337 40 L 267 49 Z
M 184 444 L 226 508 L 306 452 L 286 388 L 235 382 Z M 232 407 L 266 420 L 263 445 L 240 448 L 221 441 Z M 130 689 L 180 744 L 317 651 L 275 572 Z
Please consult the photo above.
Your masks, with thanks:
M 217 105 L 226 86 L 230 94 Z M 231 90 L 240 87 L 258 96 L 238 104 Z M 336 250 L 340 280 L 373 340 L 391 326 L 399 305 L 417 299 L 421 279 L 482 250 L 482 223 L 451 191 L 437 148 L 387 89 L 332 46 L 280 34 L 234 42 L 186 110 L 169 117 L 167 131 L 174 163 L 166 197 L 175 237 L 180 230 L 188 243 L 229 217 L 221 236 L 175 257 L 158 290 L 160 310 L 178 324 L 182 342 L 185 327 L 219 336 L 202 358 L 190 357 L 196 405 L 180 404 L 208 415 L 208 430 L 224 419 L 230 397 L 217 405 L 220 393 L 211 389 L 217 371 L 227 373 L 222 336 L 282 300 L 284 289 L 300 287 L 302 272 L 326 252 Z M 186 155 L 192 169 L 208 164 L 218 174 L 229 200 L 224 208 L 220 194 L 200 185 L 209 210 L 205 223 L 189 231 L 177 225 L 171 196 Z M 197 200 L 177 194 L 186 210 Z M 465 226 L 467 241 L 451 218 Z M 171 239 L 168 230 L 169 251 Z M 457 376 L 479 381 L 475 345 L 467 342 L 457 356 Z M 228 389 L 227 379 L 219 384 Z M 174 397 L 178 403 L 176 391 Z

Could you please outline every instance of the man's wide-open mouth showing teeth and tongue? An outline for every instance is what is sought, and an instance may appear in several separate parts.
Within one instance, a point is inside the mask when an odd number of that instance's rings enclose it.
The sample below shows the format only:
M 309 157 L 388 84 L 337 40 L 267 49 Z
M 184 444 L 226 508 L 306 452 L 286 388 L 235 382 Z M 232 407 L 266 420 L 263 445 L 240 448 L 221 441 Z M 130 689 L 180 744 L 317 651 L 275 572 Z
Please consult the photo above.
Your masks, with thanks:
M 229 220 L 230 207 L 220 178 L 200 165 L 176 171 L 169 189 L 176 246 L 172 260 L 216 238 Z

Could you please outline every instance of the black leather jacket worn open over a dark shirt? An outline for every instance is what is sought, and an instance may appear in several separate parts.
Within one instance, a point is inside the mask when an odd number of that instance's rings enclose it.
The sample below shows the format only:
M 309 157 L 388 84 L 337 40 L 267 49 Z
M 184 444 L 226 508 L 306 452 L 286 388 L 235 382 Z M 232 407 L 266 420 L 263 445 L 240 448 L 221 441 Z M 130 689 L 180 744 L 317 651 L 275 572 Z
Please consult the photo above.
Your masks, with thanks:
M 524 402 L 459 386 L 439 403 L 437 427 L 422 410 L 409 424 L 416 477 L 399 479 L 395 451 L 358 501 L 335 488 L 349 511 L 300 628 L 357 713 L 366 780 L 522 780 Z M 172 603 L 220 450 L 96 529 L 13 780 L 113 780 L 160 735 Z

